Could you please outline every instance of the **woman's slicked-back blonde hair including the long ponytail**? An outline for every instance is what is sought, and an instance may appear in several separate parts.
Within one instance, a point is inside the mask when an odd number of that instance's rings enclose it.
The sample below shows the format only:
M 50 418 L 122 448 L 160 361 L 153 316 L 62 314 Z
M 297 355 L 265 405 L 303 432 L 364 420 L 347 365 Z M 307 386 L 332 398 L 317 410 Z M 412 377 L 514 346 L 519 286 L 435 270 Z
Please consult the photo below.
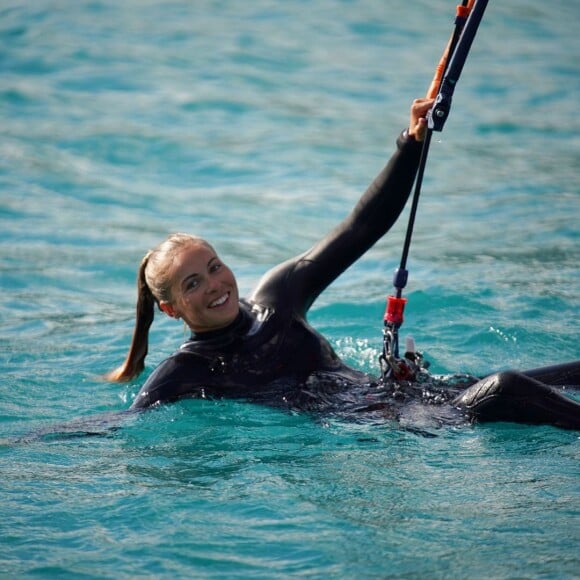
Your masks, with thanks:
M 212 246 L 203 238 L 189 234 L 171 234 L 141 260 L 137 274 L 137 309 L 135 328 L 129 352 L 123 364 L 107 373 L 104 379 L 126 382 L 145 368 L 149 349 L 149 328 L 155 316 L 155 305 L 171 302 L 171 264 L 175 256 L 190 245 Z M 213 249 L 213 248 L 212 248 Z

